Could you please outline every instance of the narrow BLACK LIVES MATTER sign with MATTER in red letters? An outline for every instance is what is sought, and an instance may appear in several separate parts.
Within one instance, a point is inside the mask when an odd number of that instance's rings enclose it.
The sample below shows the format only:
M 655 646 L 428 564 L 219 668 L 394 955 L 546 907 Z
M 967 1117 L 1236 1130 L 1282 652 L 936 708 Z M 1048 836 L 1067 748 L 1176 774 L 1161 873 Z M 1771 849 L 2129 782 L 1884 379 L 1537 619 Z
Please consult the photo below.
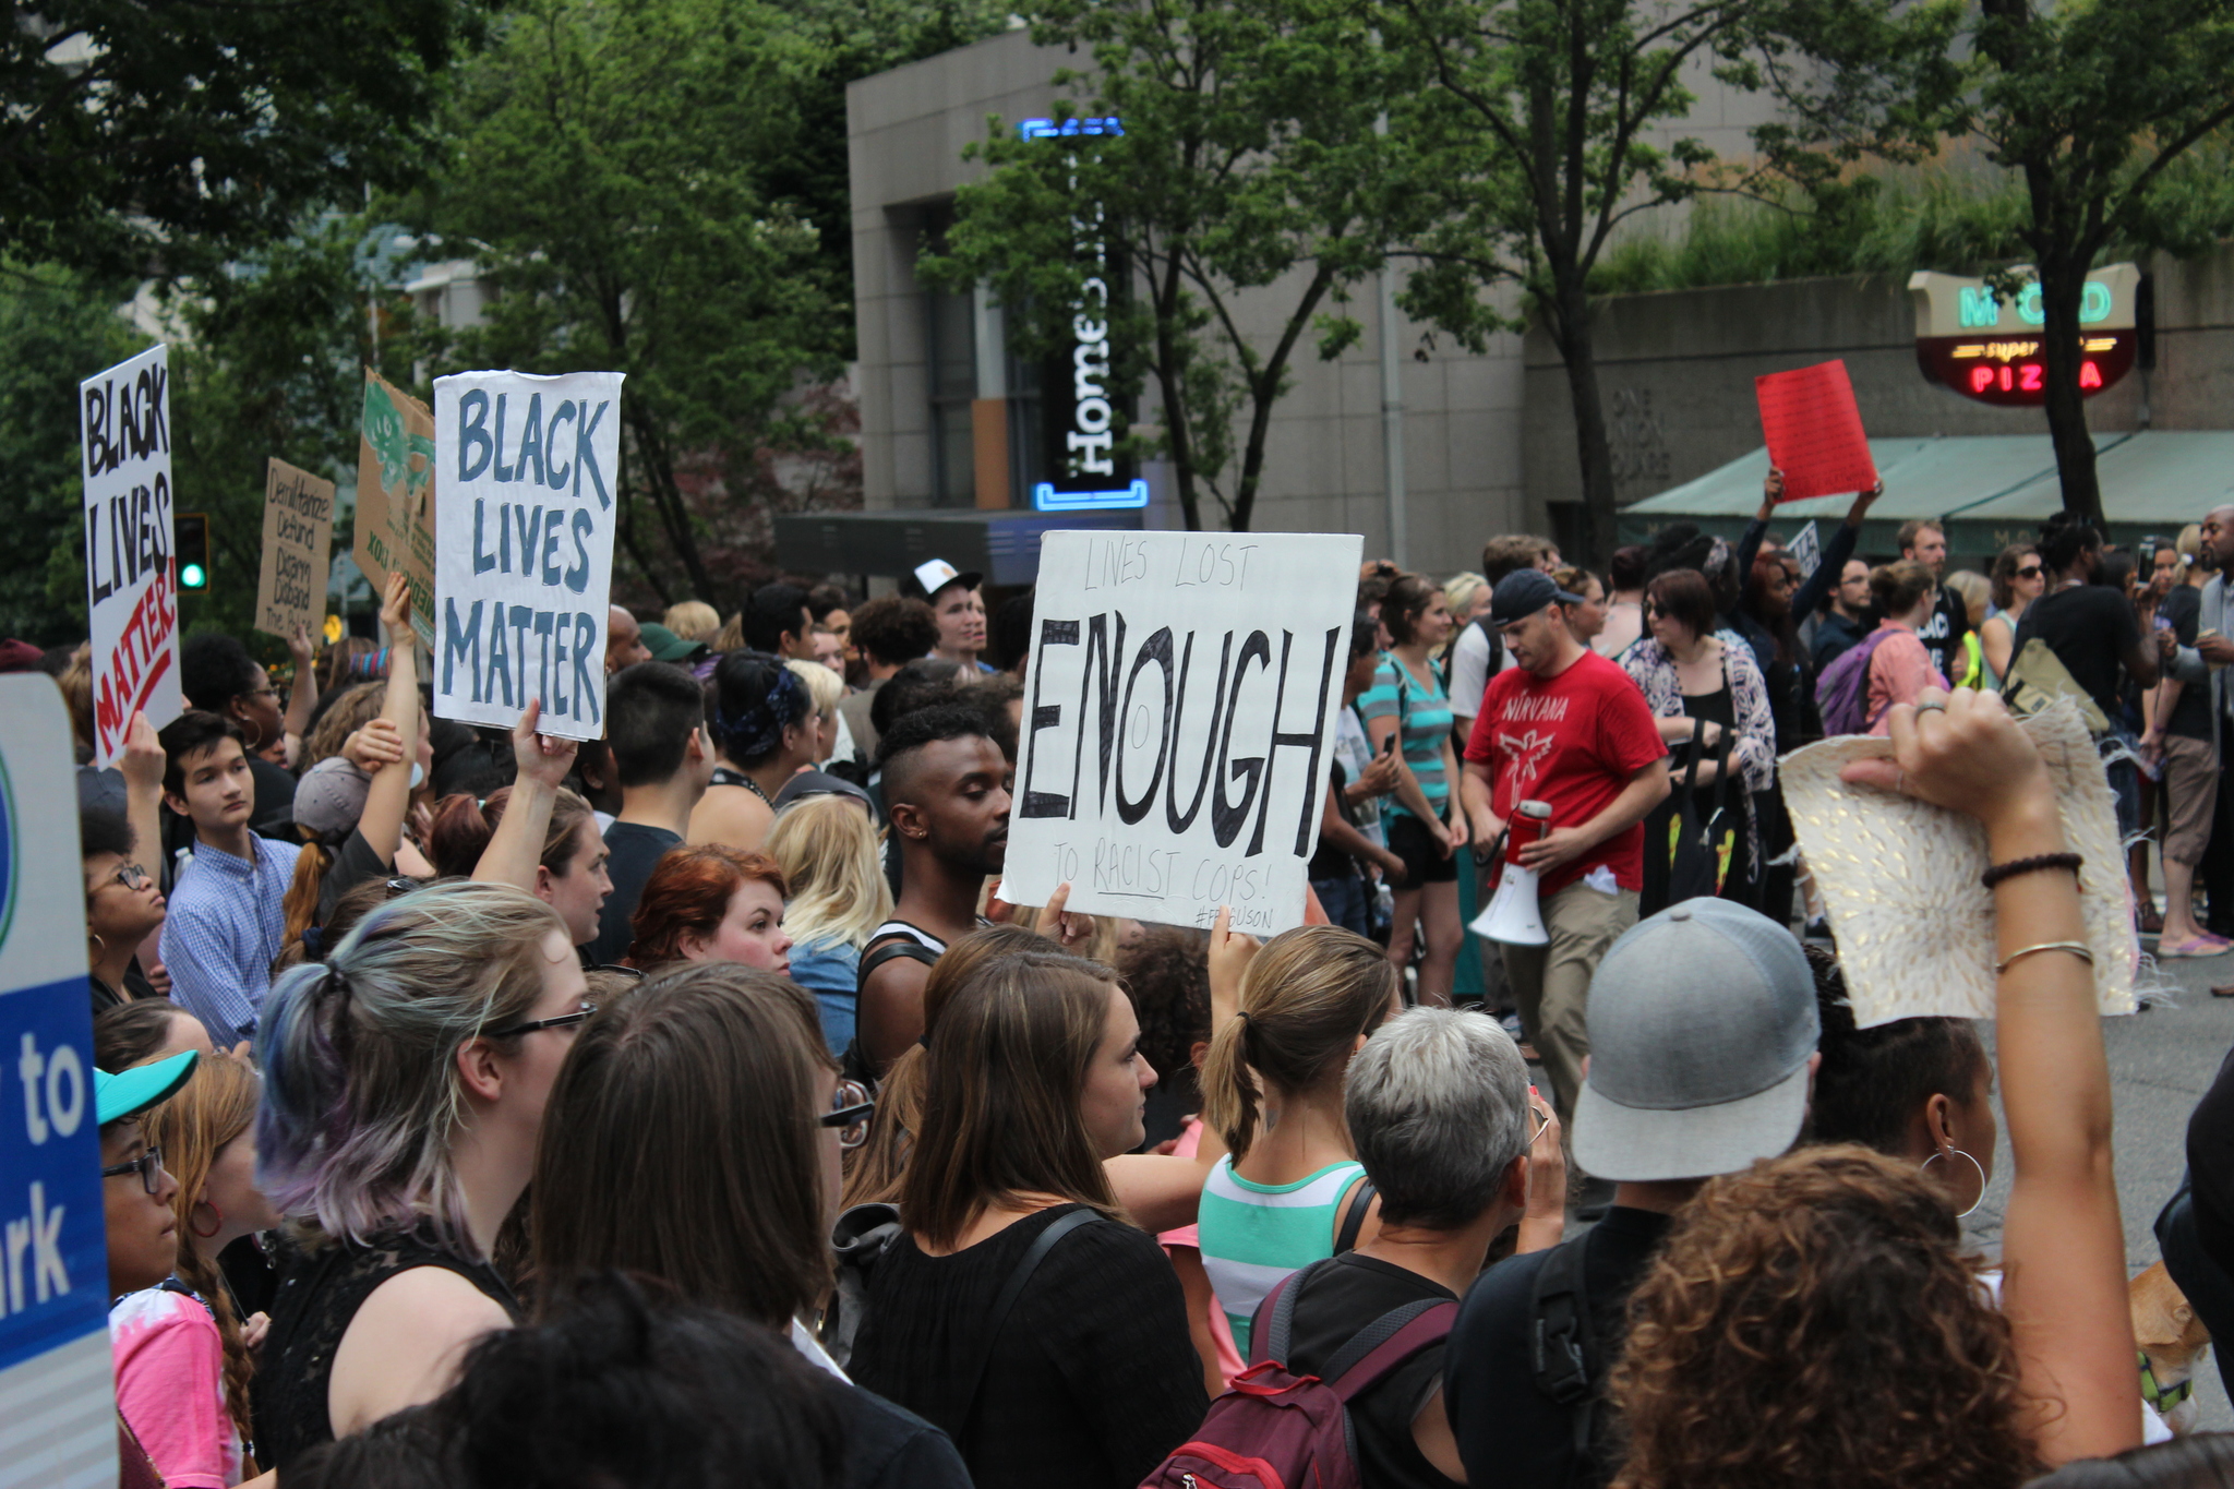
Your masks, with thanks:
M 94 763 L 123 755 L 134 712 L 179 717 L 170 359 L 150 346 L 78 384 L 85 603 L 94 638 Z

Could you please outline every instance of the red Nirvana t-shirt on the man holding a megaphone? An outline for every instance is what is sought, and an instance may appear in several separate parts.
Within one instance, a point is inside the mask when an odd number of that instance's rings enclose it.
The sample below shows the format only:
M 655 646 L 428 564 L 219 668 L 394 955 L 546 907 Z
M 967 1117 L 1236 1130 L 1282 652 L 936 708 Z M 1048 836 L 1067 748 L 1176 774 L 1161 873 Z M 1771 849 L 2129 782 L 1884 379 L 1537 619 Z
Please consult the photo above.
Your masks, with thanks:
M 1466 759 L 1490 768 L 1490 808 L 1501 822 L 1512 822 L 1521 801 L 1548 801 L 1555 828 L 1577 828 L 1606 810 L 1629 777 L 1667 752 L 1644 694 L 1597 652 L 1584 652 L 1559 676 L 1499 672 L 1466 741 Z M 1519 862 L 1517 837 L 1506 839 L 1510 862 Z M 1544 875 L 1539 893 L 1557 893 L 1600 864 L 1622 888 L 1644 888 L 1644 824 Z

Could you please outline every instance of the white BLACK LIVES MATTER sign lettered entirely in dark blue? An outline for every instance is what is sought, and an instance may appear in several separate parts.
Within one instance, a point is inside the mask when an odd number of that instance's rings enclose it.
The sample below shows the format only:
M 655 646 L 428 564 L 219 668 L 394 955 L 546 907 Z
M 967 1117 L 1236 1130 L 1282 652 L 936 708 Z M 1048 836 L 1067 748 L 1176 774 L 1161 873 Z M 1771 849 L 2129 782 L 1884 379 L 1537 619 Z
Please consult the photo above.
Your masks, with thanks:
M 433 384 L 442 471 L 433 712 L 605 732 L 621 373 L 458 373 Z

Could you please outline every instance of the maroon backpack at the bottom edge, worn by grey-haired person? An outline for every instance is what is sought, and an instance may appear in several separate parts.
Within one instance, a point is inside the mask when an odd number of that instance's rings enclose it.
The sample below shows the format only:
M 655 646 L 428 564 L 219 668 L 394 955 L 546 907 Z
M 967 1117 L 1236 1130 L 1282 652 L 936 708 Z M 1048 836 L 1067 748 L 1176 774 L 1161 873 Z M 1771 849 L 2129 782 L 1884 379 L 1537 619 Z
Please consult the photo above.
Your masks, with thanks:
M 1191 1442 L 1173 1449 L 1142 1489 L 1361 1489 L 1349 1402 L 1423 1348 L 1450 1337 L 1459 1304 L 1421 1299 L 1367 1324 L 1327 1362 L 1327 1380 L 1282 1364 L 1296 1295 L 1316 1268 L 1289 1272 L 1258 1308 L 1251 1364 L 1211 1402 Z

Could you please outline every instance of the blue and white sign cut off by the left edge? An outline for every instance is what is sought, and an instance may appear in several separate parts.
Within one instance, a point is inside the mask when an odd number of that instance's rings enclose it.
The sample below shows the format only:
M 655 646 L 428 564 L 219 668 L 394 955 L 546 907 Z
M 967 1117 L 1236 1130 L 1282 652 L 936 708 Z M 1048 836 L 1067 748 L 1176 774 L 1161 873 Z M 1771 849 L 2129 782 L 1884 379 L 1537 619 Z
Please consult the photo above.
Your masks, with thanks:
M 127 364 L 130 366 L 130 364 Z M 161 362 L 156 362 L 161 366 Z M 69 719 L 0 676 L 0 1487 L 112 1489 L 109 1250 Z

